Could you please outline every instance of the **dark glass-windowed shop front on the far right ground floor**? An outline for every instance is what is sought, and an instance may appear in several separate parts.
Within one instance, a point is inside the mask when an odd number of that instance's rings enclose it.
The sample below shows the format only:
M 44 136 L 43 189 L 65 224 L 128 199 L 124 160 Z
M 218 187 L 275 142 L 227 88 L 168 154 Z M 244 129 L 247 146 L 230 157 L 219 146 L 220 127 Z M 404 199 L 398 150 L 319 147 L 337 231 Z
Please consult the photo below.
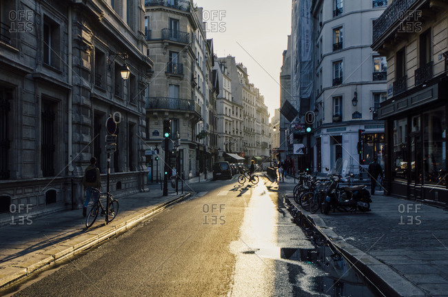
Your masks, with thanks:
M 380 107 L 388 194 L 448 204 L 446 85 L 445 79 Z

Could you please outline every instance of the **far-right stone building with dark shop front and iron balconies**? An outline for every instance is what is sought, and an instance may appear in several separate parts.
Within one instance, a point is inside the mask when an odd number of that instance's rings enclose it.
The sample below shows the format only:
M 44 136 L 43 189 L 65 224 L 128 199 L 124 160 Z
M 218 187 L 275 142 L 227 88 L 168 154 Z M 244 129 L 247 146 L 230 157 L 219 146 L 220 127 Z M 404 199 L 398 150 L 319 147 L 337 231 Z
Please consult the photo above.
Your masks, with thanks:
M 448 203 L 448 5 L 395 0 L 374 22 L 371 48 L 387 59 L 387 194 Z

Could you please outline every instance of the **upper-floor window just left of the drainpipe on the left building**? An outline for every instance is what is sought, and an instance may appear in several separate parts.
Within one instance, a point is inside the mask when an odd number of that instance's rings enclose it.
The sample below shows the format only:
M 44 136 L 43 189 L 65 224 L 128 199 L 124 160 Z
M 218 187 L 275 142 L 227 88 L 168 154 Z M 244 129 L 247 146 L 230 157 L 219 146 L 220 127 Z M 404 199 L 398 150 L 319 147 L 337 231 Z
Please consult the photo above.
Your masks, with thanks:
M 45 17 L 43 20 L 43 63 L 59 68 L 60 48 L 59 25 Z

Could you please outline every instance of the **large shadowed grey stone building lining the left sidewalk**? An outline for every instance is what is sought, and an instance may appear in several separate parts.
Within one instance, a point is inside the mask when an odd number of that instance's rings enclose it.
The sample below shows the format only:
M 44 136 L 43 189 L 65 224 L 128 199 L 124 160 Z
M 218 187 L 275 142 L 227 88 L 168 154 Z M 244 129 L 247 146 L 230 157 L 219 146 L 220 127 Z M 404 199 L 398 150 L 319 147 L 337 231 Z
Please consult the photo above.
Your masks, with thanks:
M 152 61 L 143 8 L 143 0 L 1 1 L 1 222 L 10 205 L 29 204 L 30 215 L 78 207 L 91 156 L 105 190 L 110 114 L 118 122 L 110 190 L 144 190 L 143 94 Z

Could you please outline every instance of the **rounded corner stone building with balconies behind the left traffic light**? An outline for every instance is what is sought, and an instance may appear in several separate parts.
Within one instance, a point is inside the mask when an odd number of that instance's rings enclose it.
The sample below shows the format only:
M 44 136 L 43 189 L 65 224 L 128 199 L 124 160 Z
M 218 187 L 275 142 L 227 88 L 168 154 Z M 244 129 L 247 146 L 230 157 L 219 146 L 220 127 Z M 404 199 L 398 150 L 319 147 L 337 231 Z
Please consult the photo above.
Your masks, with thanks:
M 145 142 L 164 156 L 160 150 L 163 119 L 171 119 L 172 139 L 180 139 L 179 174 L 185 178 L 197 176 L 207 167 L 211 170 L 210 107 L 216 95 L 213 43 L 206 39 L 204 28 L 202 8 L 194 8 L 192 1 L 145 1 L 145 37 L 154 59 L 145 98 Z M 168 163 L 175 166 L 174 156 Z M 151 180 L 156 180 L 163 158 L 156 160 L 154 154 L 148 154 L 147 165 Z

